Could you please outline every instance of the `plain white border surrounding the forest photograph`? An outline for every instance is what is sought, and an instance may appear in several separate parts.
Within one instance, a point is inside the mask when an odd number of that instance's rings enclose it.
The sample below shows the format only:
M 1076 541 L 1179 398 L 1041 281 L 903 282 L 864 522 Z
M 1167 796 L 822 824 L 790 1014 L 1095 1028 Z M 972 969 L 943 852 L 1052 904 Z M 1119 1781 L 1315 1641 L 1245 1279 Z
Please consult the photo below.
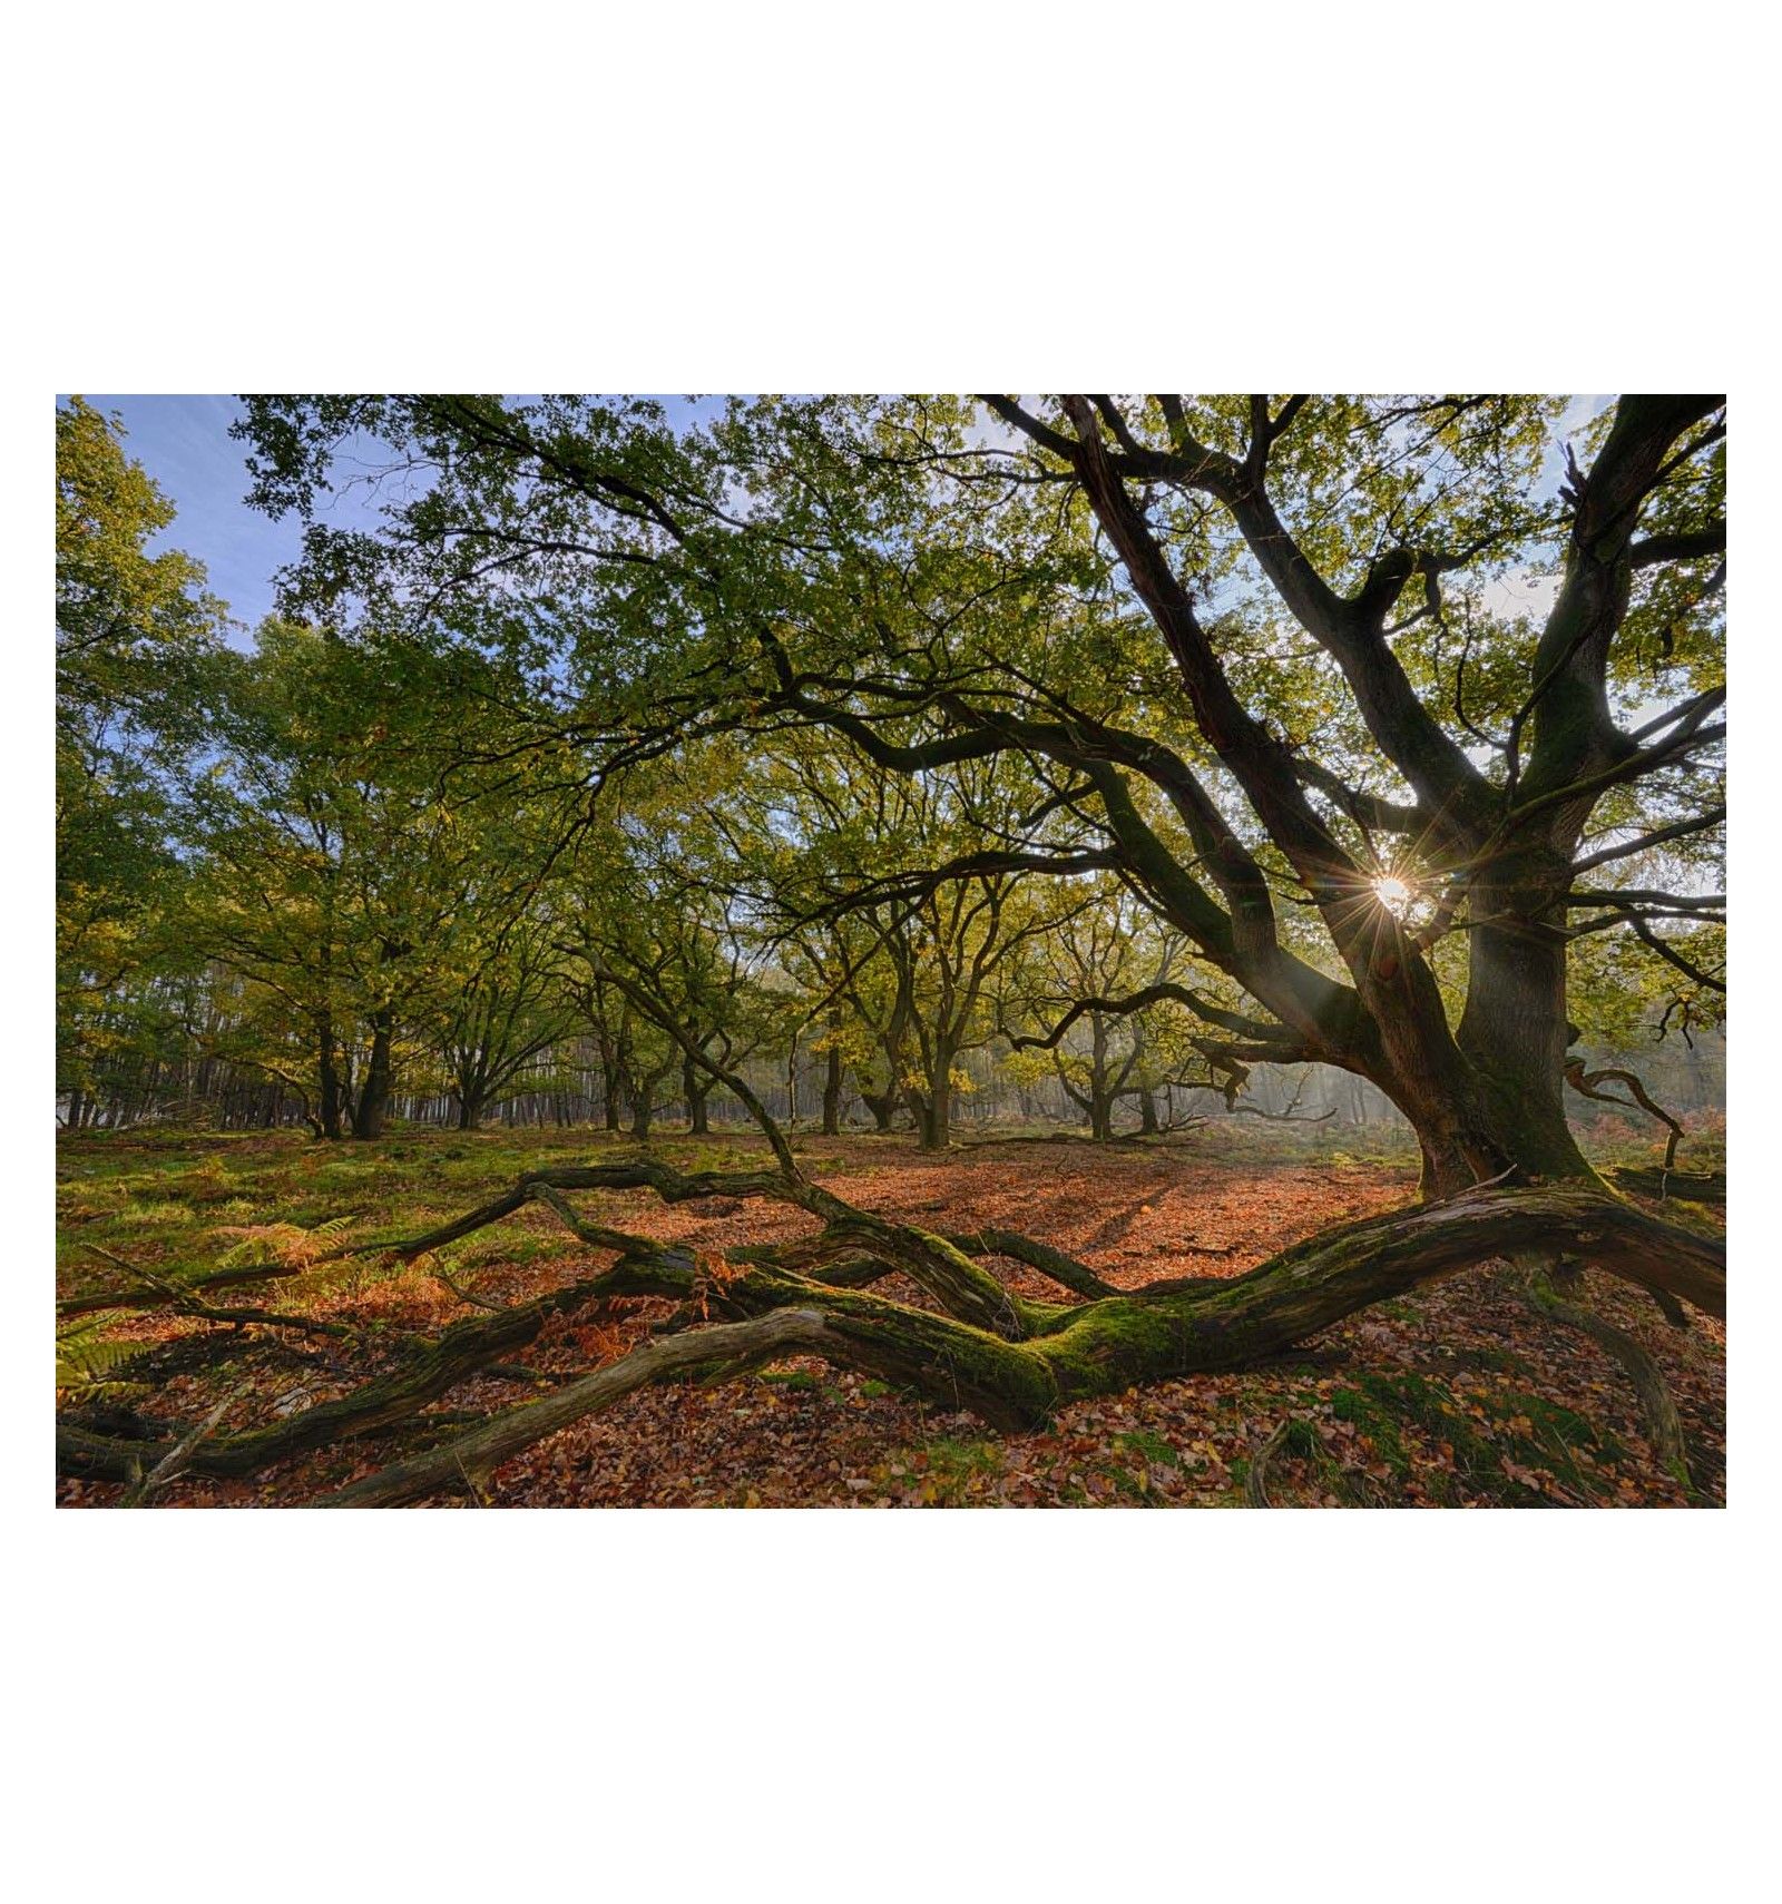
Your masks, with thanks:
M 36 1319 L 53 390 L 1713 379 L 1757 446 L 1772 63 L 1736 17 L 1277 6 L 1243 36 L 1236 10 L 362 0 L 13 25 L 21 1894 L 1757 1894 L 1757 1045 L 1732 1064 L 1719 1516 L 57 1517 Z M 1774 459 L 1736 457 L 1738 522 L 1774 520 Z M 1776 644 L 1761 581 L 1732 600 L 1750 720 Z M 1740 998 L 1772 942 L 1772 758 L 1734 741 Z

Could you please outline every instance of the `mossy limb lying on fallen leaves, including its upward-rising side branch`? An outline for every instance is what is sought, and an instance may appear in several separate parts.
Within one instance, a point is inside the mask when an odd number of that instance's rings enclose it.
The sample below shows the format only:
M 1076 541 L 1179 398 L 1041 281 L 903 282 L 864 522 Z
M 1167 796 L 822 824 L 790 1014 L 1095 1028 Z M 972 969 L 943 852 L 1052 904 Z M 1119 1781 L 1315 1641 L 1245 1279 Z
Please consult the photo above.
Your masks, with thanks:
M 619 977 L 615 982 L 636 990 Z M 638 1002 L 644 1009 L 651 1005 L 642 992 Z M 1654 1295 L 1725 1314 L 1721 1241 L 1647 1217 L 1597 1188 L 1481 1186 L 1443 1203 L 1325 1230 L 1247 1276 L 1184 1278 L 1118 1293 L 1087 1264 L 1032 1238 L 1005 1230 L 948 1238 L 857 1209 L 813 1184 L 748 1085 L 712 1064 L 668 1015 L 661 1022 L 695 1064 L 748 1106 L 777 1169 L 683 1173 L 653 1158 L 636 1158 L 537 1171 L 505 1196 L 423 1236 L 352 1245 L 352 1253 L 415 1259 L 541 1203 L 579 1241 L 613 1251 L 615 1260 L 569 1289 L 455 1323 L 354 1394 L 270 1428 L 223 1439 L 204 1434 L 192 1439 L 190 1432 L 173 1430 L 168 1439 L 131 1441 L 65 1424 L 57 1436 L 63 1472 L 133 1479 L 179 1453 L 185 1472 L 257 1474 L 293 1455 L 409 1420 L 465 1378 L 506 1363 L 550 1316 L 626 1297 L 678 1302 L 674 1333 L 655 1335 L 619 1361 L 567 1380 L 552 1396 L 449 1436 L 354 1483 L 337 1500 L 377 1504 L 419 1500 L 444 1485 L 474 1489 L 499 1462 L 647 1382 L 701 1371 L 722 1375 L 788 1352 L 883 1377 L 946 1407 L 969 1409 L 994 1428 L 1038 1428 L 1066 1401 L 1268 1361 L 1359 1308 L 1491 1257 L 1552 1260 L 1574 1255 Z M 564 1194 L 636 1188 L 668 1203 L 712 1196 L 773 1198 L 803 1211 L 817 1230 L 788 1243 L 712 1257 L 594 1222 Z M 1034 1302 L 1005 1289 L 975 1260 L 977 1255 L 1024 1262 L 1083 1300 Z M 916 1283 L 939 1314 L 876 1295 L 870 1283 L 893 1272 Z M 175 1291 L 175 1299 L 192 1300 L 188 1291 L 208 1281 Z M 148 1297 L 156 1304 L 169 1300 L 166 1285 Z M 1559 1302 L 1552 1289 L 1548 1297 Z M 1595 1325 L 1595 1318 L 1590 1323 Z M 1605 1339 L 1597 1335 L 1597 1340 Z M 1613 1348 L 1607 1340 L 1605 1346 Z M 1656 1371 L 1651 1373 L 1658 1380 Z M 1664 1399 L 1668 1403 L 1668 1392 Z M 1666 1441 L 1664 1458 L 1670 1458 L 1670 1445 Z M 1681 1430 L 1675 1447 L 1681 1455 Z M 1260 1478 L 1257 1487 L 1264 1487 Z

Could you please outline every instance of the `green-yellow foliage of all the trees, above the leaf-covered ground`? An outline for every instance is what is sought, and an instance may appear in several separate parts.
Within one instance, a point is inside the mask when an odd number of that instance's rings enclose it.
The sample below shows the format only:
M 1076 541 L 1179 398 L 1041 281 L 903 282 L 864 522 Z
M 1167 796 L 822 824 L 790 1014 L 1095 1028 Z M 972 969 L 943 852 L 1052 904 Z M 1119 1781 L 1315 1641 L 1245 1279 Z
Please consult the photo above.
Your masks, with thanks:
M 305 526 L 251 653 L 148 554 L 168 505 L 76 402 L 65 1081 L 109 1064 L 173 1108 L 251 1076 L 333 1133 L 398 1083 L 476 1121 L 592 1076 L 642 1137 L 723 1089 L 685 1034 L 788 1095 L 834 1059 L 832 1095 L 851 1074 L 944 1142 L 988 1051 L 1093 1000 L 1005 1062 L 1099 1135 L 1163 1087 L 1239 1101 L 1277 1053 L 1525 1106 L 1495 1070 L 1521 1053 L 1468 1024 L 1500 904 L 1571 948 L 1550 1022 L 1694 1036 L 1723 998 L 1719 750 L 1597 771 L 1723 684 L 1725 425 L 1658 402 L 1586 419 L 1565 465 L 1544 396 L 735 398 L 693 425 L 251 398 L 255 501 Z M 1653 430 L 1614 522 L 1675 550 L 1586 524 L 1597 626 L 1573 531 Z M 373 529 L 322 506 L 348 438 L 428 472 Z

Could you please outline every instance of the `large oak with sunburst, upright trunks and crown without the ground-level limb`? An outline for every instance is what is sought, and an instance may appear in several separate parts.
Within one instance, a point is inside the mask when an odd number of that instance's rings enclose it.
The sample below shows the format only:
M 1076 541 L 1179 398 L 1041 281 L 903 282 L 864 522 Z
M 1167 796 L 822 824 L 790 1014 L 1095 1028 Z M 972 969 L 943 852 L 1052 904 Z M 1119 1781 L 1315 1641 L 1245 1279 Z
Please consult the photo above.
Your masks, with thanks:
M 1118 870 L 1247 994 L 1173 992 L 1234 1062 L 1369 1078 L 1447 1194 L 1592 1175 L 1580 933 L 1717 982 L 1679 933 L 1719 918 L 1712 882 L 1618 876 L 1725 815 L 1725 406 L 1622 398 L 1563 461 L 1557 415 L 287 398 L 248 430 L 274 508 L 312 508 L 346 430 L 426 468 L 385 537 L 312 522 L 295 594 L 554 657 L 539 744 L 590 781 L 788 722 L 910 775 L 1024 754 L 1047 798 L 971 870 Z M 1536 577 L 1542 615 L 1493 605 Z

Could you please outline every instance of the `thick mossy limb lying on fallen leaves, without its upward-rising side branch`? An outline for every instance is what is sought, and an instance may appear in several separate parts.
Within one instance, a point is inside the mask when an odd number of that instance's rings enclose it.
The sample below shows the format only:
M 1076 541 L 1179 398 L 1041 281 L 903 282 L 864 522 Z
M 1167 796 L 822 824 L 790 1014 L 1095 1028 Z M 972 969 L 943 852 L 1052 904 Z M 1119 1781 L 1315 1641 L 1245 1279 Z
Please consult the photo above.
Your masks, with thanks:
M 792 1188 L 784 1184 L 782 1194 Z M 1060 1401 L 1116 1394 L 1163 1375 L 1245 1367 L 1371 1302 L 1489 1257 L 1536 1247 L 1574 1253 L 1645 1289 L 1725 1314 L 1723 1245 L 1588 1190 L 1483 1190 L 1325 1232 L 1247 1276 L 1159 1283 L 1133 1295 L 1097 1293 L 1062 1308 L 1001 1291 L 946 1238 L 883 1222 L 838 1198 L 830 1203 L 836 1217 L 821 1238 L 786 1247 L 782 1260 L 769 1260 L 760 1249 L 737 1253 L 722 1274 L 701 1268 L 691 1251 L 634 1240 L 609 1270 L 499 1316 L 457 1323 L 392 1373 L 339 1401 L 272 1428 L 194 1443 L 188 1472 L 257 1474 L 341 1438 L 411 1422 L 468 1375 L 505 1365 L 550 1316 L 626 1297 L 678 1299 L 691 1314 L 687 1304 L 704 1291 L 725 1321 L 750 1323 L 773 1312 L 796 1312 L 796 1319 L 737 1337 L 682 1329 L 664 1339 L 661 1356 L 626 1358 L 565 1384 L 548 1398 L 554 1411 L 539 1405 L 508 1411 L 470 1428 L 472 1439 L 455 1438 L 417 1457 L 423 1468 L 409 1466 L 392 1479 L 390 1498 L 419 1498 L 421 1491 L 485 1472 L 491 1460 L 645 1380 L 714 1365 L 741 1367 L 794 1346 L 914 1386 L 944 1405 L 973 1409 L 994 1426 L 1038 1426 Z M 506 1205 L 508 1200 L 499 1200 L 485 1209 Z M 560 1200 L 550 1207 L 560 1209 Z M 463 1232 L 461 1222 L 447 1228 Z M 600 1238 L 619 1234 L 588 1230 Z M 1001 1234 L 977 1241 L 1034 1260 L 1060 1279 L 1074 1274 L 1070 1259 L 1045 1259 L 1041 1245 Z M 805 1264 L 830 1255 L 849 1274 L 834 1281 L 800 1274 L 790 1266 L 800 1253 Z M 859 1259 L 918 1278 L 950 1312 L 933 1314 L 845 1287 L 859 1279 Z M 63 1472 L 129 1479 L 154 1468 L 181 1439 L 179 1430 L 168 1441 L 133 1441 L 63 1424 L 57 1458 Z M 366 1483 L 354 1498 L 369 1502 L 381 1491 Z

